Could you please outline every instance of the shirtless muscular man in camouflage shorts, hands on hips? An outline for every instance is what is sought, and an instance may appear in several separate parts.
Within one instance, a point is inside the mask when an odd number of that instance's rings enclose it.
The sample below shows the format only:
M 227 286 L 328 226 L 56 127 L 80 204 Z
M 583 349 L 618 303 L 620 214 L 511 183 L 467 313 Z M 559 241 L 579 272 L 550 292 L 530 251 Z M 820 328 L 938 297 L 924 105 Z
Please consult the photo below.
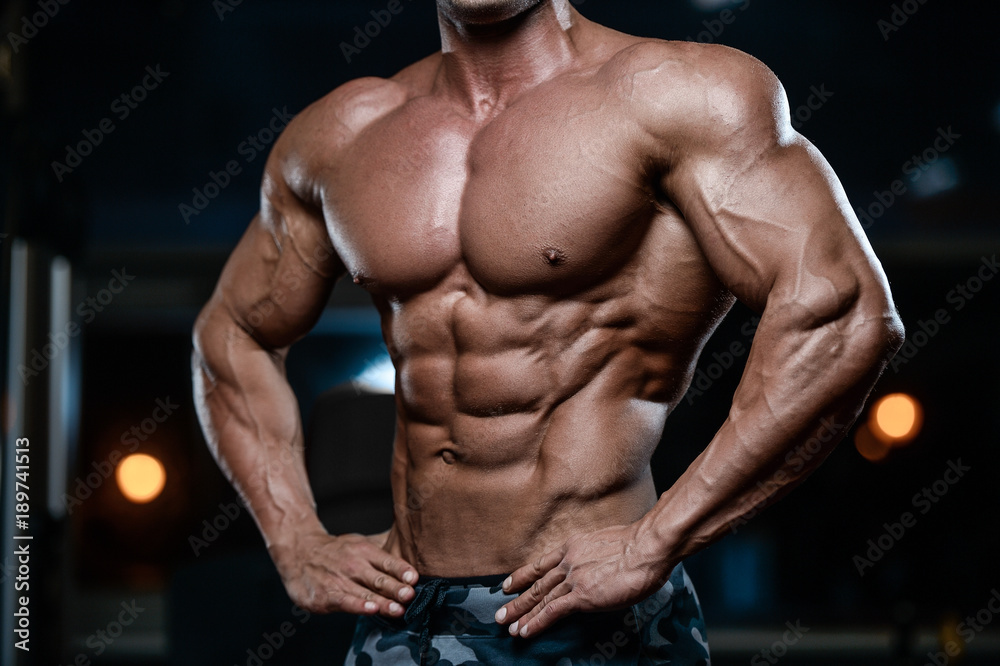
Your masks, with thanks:
M 275 145 L 196 325 L 210 446 L 291 598 L 362 616 L 349 663 L 708 663 L 680 563 L 857 417 L 902 340 L 881 266 L 753 58 L 568 0 L 438 13 L 441 52 Z M 396 368 L 375 536 L 317 519 L 283 372 L 344 275 Z M 762 315 L 729 417 L 658 497 L 664 420 L 736 298 Z

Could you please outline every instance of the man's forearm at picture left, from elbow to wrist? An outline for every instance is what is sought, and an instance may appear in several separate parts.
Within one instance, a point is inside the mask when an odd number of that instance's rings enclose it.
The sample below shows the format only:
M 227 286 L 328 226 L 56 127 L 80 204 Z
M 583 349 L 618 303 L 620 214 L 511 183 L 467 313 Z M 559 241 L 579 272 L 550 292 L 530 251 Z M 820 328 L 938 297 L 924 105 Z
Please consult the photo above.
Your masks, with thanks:
M 283 354 L 262 348 L 210 304 L 196 327 L 192 372 L 209 448 L 272 555 L 296 534 L 322 530 Z

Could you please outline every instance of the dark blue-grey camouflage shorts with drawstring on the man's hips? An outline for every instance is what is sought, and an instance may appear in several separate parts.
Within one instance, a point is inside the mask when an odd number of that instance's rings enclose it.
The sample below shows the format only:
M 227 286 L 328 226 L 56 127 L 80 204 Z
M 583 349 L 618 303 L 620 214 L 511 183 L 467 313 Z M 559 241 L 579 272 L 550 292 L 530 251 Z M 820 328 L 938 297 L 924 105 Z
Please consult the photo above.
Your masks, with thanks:
M 345 666 L 518 664 L 532 666 L 708 666 L 705 621 L 680 565 L 630 608 L 576 613 L 533 638 L 511 637 L 493 614 L 516 595 L 506 575 L 425 578 L 403 618 L 358 618 Z

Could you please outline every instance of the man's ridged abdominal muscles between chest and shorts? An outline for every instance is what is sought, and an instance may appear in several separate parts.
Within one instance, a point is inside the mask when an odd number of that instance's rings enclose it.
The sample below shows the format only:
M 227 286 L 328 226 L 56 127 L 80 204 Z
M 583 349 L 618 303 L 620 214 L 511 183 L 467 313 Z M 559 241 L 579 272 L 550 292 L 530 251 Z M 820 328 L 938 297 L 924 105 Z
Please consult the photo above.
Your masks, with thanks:
M 667 414 L 647 394 L 677 373 L 640 350 L 621 299 L 441 287 L 383 308 L 398 373 L 387 549 L 422 574 L 497 574 L 644 515 Z

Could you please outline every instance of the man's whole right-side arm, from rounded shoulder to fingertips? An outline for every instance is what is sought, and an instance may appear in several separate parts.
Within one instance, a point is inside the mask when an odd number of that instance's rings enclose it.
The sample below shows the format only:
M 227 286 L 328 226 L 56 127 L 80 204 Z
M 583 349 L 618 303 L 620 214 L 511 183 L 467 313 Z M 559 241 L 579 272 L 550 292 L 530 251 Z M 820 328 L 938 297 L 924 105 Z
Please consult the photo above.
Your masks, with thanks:
M 902 341 L 881 266 L 830 166 L 792 130 L 774 75 L 697 46 L 637 70 L 634 108 L 662 196 L 722 283 L 763 314 L 729 417 L 654 508 L 573 537 L 508 579 L 508 590 L 528 589 L 497 619 L 516 620 L 522 636 L 642 599 L 791 490 L 846 434 Z M 794 453 L 814 436 L 817 455 Z

